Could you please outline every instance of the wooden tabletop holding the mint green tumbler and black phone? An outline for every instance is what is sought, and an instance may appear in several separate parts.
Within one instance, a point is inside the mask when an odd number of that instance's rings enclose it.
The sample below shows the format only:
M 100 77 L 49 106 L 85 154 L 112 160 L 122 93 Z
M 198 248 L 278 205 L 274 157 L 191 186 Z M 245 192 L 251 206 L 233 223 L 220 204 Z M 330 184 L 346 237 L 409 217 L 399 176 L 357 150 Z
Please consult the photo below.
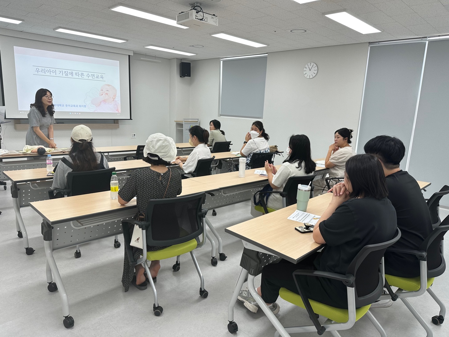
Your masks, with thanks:
M 331 198 L 331 193 L 325 193 L 310 199 L 307 212 L 321 216 Z M 225 232 L 287 261 L 298 263 L 308 254 L 317 251 L 321 245 L 313 241 L 312 233 L 302 234 L 295 230 L 302 223 L 287 219 L 295 210 L 296 205 L 291 205 L 225 228 Z

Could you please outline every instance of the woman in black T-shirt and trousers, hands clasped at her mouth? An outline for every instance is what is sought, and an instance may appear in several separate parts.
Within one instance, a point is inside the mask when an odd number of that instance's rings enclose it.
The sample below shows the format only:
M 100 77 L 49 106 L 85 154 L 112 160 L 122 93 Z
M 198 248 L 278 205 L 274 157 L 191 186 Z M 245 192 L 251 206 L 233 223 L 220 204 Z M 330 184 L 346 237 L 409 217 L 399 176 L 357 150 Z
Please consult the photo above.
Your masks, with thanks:
M 388 200 L 387 183 L 382 165 L 372 154 L 358 154 L 346 162 L 346 192 L 333 193 L 326 211 L 315 228 L 313 240 L 325 245 L 298 264 L 281 260 L 262 269 L 261 286 L 257 292 L 273 313 L 279 312 L 275 302 L 282 287 L 298 293 L 292 276 L 297 269 L 312 269 L 346 274 L 352 259 L 365 245 L 391 240 L 396 233 L 396 211 Z M 299 234 L 301 235 L 301 234 Z M 321 277 L 296 278 L 309 299 L 348 308 L 346 286 L 337 280 Z M 239 300 L 251 310 L 258 309 L 254 298 L 242 290 Z

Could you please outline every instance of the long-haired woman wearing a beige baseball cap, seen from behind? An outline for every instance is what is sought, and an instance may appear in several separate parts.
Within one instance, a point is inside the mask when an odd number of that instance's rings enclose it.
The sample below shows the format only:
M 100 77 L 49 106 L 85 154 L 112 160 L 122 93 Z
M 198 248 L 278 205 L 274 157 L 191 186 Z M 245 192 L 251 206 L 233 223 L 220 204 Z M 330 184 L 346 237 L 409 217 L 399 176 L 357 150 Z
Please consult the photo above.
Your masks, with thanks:
M 68 156 L 64 156 L 57 165 L 53 176 L 52 189 L 67 188 L 67 175 L 71 171 L 93 171 L 109 168 L 104 155 L 95 152 L 92 143 L 92 131 L 85 125 L 77 125 L 70 138 L 72 147 Z

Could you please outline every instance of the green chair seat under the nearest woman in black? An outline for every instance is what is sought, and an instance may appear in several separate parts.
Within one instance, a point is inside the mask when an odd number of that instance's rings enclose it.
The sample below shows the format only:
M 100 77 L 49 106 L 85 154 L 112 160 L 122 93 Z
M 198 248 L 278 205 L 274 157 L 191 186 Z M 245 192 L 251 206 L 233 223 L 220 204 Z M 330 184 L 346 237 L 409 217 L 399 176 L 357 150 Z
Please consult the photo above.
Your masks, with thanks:
M 295 304 L 295 306 L 300 306 L 304 309 L 306 308 L 304 306 L 303 300 L 301 299 L 301 296 L 299 296 L 297 293 L 294 293 L 285 288 L 281 288 L 279 290 L 279 296 L 281 296 L 281 298 L 283 298 L 287 302 Z M 348 309 L 335 308 L 334 306 L 328 306 L 311 299 L 309 299 L 309 302 L 312 306 L 313 312 L 315 312 L 316 314 L 332 319 L 337 323 L 348 322 Z M 370 309 L 370 306 L 371 305 L 362 306 L 361 308 L 356 309 L 356 321 L 366 314 L 366 312 Z

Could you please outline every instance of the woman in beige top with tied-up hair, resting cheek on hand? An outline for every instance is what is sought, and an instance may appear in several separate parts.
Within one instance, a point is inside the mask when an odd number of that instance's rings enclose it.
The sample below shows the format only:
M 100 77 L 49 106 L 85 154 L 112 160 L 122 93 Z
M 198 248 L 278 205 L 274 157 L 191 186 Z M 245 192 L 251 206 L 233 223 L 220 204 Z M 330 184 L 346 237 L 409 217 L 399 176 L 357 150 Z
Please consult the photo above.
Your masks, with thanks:
M 327 151 L 324 165 L 329 169 L 329 177 L 343 178 L 346 161 L 355 155 L 352 146 L 352 129 L 343 127 L 335 131 L 334 143 L 330 144 L 329 151 Z M 330 180 L 330 187 L 334 186 L 338 181 Z M 315 188 L 315 195 L 327 192 L 327 185 L 325 179 L 316 179 L 313 181 Z

